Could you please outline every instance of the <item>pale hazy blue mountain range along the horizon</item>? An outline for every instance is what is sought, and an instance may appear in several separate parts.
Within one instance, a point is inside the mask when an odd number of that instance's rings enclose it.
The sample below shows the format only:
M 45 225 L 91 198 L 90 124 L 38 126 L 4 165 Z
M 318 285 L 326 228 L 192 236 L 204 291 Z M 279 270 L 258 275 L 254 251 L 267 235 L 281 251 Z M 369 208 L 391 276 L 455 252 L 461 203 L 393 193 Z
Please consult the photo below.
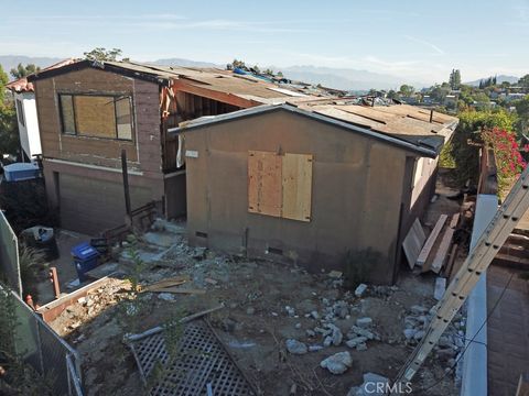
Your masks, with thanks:
M 31 57 L 22 55 L 0 55 L 0 65 L 3 70 L 9 74 L 9 70 L 17 67 L 19 63 L 35 64 L 40 67 L 46 67 L 54 63 L 61 62 L 57 57 Z M 225 64 L 215 64 L 210 62 L 191 61 L 184 58 L 163 58 L 153 62 L 148 62 L 154 65 L 162 66 L 183 66 L 183 67 L 218 67 L 225 68 Z M 334 67 L 319 67 L 311 65 L 289 66 L 289 67 L 261 67 L 262 69 L 271 68 L 274 72 L 281 70 L 287 78 L 293 80 L 301 80 L 310 84 L 321 84 L 324 87 L 337 88 L 343 90 L 366 91 L 374 89 L 398 89 L 402 84 L 413 86 L 417 90 L 429 87 L 430 84 L 424 81 L 413 81 L 393 75 L 378 74 L 368 70 L 357 70 L 349 68 L 334 68 Z M 488 78 L 488 77 L 487 77 Z M 485 79 L 485 78 L 483 78 Z M 471 86 L 479 86 L 481 79 L 465 82 Z M 499 75 L 497 81 L 509 81 L 511 84 L 518 82 L 518 77 Z

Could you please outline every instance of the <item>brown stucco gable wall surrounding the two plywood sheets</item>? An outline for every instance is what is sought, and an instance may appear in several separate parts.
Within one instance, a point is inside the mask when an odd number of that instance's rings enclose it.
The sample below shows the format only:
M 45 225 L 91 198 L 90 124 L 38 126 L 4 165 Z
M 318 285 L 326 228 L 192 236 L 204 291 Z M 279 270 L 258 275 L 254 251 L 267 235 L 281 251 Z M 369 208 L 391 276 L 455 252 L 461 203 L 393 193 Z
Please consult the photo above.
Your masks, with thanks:
M 316 271 L 346 271 L 348 251 L 370 249 L 371 280 L 392 282 L 409 153 L 287 112 L 203 127 L 185 140 L 198 154 L 186 158 L 192 243 Z M 248 212 L 248 151 L 314 155 L 310 222 Z

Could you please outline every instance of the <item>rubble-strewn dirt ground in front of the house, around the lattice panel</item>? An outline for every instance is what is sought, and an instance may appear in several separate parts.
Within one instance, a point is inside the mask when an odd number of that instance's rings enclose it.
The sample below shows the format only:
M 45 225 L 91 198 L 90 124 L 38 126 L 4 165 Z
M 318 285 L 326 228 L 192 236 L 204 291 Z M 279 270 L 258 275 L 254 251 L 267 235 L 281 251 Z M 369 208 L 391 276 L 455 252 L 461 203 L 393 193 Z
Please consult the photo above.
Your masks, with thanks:
M 427 234 L 439 213 L 458 210 L 457 201 L 446 199 L 453 189 L 438 193 L 440 196 L 424 219 Z M 132 263 L 130 249 L 138 252 L 141 265 L 147 267 L 137 271 L 138 262 Z M 188 246 L 184 224 L 169 223 L 164 229 L 163 223 L 155 223 L 147 234 L 131 237 L 125 250 L 115 251 L 115 257 L 117 265 L 112 264 L 112 268 L 118 274 L 51 323 L 82 354 L 88 395 L 148 394 L 136 361 L 122 342 L 123 334 L 139 333 L 168 319 L 224 304 L 208 320 L 260 394 L 289 395 L 295 384 L 295 395 L 345 396 L 353 386 L 361 384 L 367 372 L 396 377 L 413 350 L 413 342 L 404 336 L 412 307 L 429 309 L 435 304 L 432 273 L 419 275 L 402 267 L 396 286 L 368 285 L 365 295 L 356 297 L 342 278 L 323 270 L 309 274 L 293 265 Z M 188 275 L 190 280 L 180 287 L 206 293 L 174 294 L 164 296 L 165 299 L 158 293 L 141 293 L 131 310 L 127 290 L 134 272 L 140 274 L 142 285 Z M 345 311 L 338 315 L 336 307 L 345 307 Z M 367 350 L 349 348 L 346 334 L 363 317 L 373 319 L 369 330 L 378 340 L 368 340 Z M 324 337 L 317 328 L 325 326 L 324 321 L 342 331 L 344 341 L 339 345 L 304 354 L 287 351 L 288 339 L 323 345 Z M 311 332 L 314 330 L 315 334 Z M 342 351 L 348 351 L 353 358 L 352 367 L 344 374 L 331 374 L 320 366 L 322 360 Z M 447 372 L 455 355 L 441 352 L 433 352 L 415 375 L 413 395 L 458 394 L 454 373 Z

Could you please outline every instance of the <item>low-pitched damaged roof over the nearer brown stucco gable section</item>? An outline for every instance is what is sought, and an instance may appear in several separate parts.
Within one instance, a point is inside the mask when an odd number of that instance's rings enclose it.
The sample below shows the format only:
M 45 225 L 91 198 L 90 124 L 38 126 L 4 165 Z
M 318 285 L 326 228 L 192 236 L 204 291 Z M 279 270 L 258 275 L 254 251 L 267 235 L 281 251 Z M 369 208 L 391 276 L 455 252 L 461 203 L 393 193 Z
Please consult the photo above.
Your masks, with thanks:
M 300 100 L 301 99 L 301 100 Z M 458 119 L 409 105 L 363 106 L 352 100 L 303 100 L 279 106 L 258 106 L 228 114 L 203 117 L 181 123 L 169 133 L 186 132 L 215 122 L 226 122 L 263 112 L 287 110 L 317 121 L 359 132 L 386 143 L 435 158 L 457 127 Z

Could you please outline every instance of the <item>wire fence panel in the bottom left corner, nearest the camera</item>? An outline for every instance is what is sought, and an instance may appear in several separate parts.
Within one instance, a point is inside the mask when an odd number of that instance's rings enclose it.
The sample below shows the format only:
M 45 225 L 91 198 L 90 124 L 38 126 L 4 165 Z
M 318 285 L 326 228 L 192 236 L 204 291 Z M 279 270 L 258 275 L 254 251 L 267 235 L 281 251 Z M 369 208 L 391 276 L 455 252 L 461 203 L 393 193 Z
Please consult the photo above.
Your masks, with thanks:
M 6 294 L 6 290 L 0 290 Z M 83 396 L 80 356 L 28 305 L 9 292 L 14 306 L 15 354 L 30 364 L 56 396 Z

